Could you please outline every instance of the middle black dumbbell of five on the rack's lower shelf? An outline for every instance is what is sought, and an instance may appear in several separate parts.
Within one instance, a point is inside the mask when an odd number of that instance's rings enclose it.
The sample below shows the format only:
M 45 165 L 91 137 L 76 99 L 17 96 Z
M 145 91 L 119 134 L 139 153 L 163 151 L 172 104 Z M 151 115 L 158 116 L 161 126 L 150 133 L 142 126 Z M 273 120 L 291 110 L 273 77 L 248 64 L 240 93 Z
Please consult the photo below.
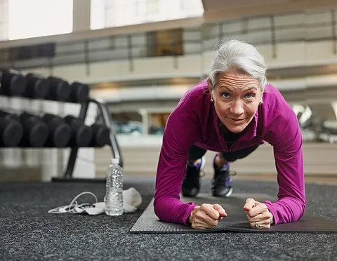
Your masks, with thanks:
M 49 137 L 45 147 L 67 147 L 72 130 L 60 117 L 53 114 L 44 114 L 42 120 L 49 128 Z

